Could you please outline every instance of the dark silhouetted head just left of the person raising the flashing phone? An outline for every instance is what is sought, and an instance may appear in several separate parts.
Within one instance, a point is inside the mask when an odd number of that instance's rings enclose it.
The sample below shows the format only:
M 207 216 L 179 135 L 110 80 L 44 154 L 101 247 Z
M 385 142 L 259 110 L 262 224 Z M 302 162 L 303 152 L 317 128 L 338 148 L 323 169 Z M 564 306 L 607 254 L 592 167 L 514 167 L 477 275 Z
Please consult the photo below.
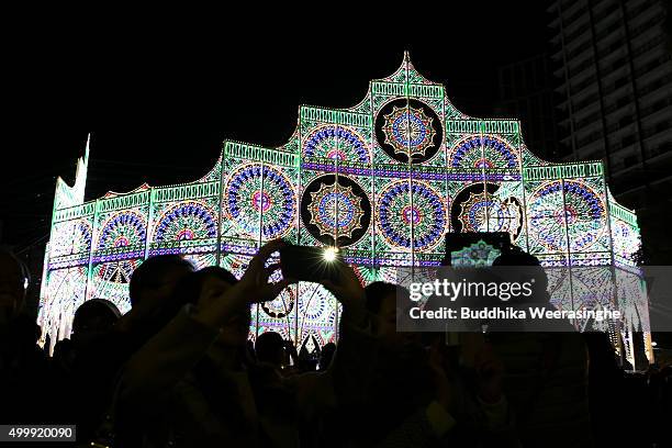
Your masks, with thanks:
M 147 258 L 131 275 L 128 294 L 131 305 L 161 306 L 171 299 L 176 285 L 193 272 L 193 265 L 179 255 L 159 255 Z

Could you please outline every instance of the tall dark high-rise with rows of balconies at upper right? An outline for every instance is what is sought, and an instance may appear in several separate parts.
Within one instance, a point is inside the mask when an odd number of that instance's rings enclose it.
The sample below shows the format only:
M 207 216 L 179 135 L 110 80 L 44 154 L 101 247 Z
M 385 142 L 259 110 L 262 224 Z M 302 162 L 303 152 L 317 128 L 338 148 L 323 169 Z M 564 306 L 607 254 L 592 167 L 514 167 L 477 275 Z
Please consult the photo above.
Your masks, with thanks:
M 669 4 L 669 2 L 668 2 Z M 637 210 L 650 264 L 672 257 L 672 60 L 660 0 L 555 0 L 548 12 L 564 160 L 602 159 Z

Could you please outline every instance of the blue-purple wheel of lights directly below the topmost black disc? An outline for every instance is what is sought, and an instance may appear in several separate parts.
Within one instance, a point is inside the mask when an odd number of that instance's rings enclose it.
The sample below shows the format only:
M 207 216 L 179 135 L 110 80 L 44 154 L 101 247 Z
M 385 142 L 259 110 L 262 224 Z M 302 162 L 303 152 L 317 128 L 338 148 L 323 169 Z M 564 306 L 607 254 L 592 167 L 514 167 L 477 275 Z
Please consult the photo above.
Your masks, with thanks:
M 411 194 L 411 191 L 413 193 Z M 426 250 L 434 247 L 446 229 L 446 206 L 428 183 L 407 181 L 388 186 L 378 202 L 380 231 L 389 245 Z M 413 225 L 411 225 L 413 223 Z

